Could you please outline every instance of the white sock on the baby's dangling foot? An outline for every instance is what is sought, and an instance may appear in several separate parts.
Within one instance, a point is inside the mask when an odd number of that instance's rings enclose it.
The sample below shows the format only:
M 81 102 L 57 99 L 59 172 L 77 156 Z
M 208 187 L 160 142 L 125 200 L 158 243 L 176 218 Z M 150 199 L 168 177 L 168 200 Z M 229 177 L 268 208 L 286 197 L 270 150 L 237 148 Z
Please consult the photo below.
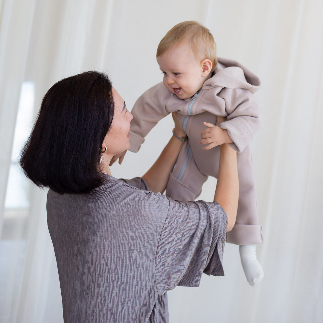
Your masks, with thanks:
M 264 272 L 256 257 L 256 245 L 240 245 L 239 252 L 247 281 L 251 286 L 256 286 L 264 277 Z

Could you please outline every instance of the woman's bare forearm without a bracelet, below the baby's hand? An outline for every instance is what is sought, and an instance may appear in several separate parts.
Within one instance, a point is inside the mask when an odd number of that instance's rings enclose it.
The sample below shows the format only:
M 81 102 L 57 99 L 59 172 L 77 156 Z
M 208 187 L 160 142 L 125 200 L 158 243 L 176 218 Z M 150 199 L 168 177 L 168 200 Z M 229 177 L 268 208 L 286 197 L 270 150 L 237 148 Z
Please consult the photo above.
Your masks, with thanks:
M 228 144 L 223 144 L 220 146 L 219 175 L 214 193 L 214 201 L 218 202 L 227 214 L 227 231 L 230 231 L 235 224 L 238 198 L 237 153 Z

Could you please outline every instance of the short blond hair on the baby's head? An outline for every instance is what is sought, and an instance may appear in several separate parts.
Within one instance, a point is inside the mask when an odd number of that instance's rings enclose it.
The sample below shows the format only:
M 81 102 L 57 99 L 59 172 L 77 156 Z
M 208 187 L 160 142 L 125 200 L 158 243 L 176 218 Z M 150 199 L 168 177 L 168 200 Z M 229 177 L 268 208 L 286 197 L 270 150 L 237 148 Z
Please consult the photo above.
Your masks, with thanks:
M 216 44 L 209 29 L 197 21 L 184 21 L 172 27 L 161 39 L 156 57 L 160 57 L 175 44 L 188 42 L 197 59 L 209 59 L 212 62 L 212 72 L 215 70 L 218 60 L 216 58 Z

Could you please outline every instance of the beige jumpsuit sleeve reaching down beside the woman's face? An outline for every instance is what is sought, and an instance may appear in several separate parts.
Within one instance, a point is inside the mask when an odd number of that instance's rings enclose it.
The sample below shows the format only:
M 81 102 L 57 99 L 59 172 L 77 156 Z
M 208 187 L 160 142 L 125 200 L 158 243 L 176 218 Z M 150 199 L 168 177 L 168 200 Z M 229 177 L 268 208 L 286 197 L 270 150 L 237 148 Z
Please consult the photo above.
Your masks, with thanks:
M 149 131 L 170 113 L 166 110 L 166 103 L 171 96 L 172 93 L 161 82 L 144 92 L 136 101 L 131 110 L 130 151 L 137 152 Z

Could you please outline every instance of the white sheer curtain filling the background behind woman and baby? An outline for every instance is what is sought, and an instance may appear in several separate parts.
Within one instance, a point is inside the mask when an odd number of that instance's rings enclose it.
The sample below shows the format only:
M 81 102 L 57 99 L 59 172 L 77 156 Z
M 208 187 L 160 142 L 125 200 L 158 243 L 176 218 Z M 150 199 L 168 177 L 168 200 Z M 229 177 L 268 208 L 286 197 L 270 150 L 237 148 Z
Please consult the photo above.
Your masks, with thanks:
M 321 322 L 322 14 L 321 0 L 0 0 L 0 321 L 62 322 L 46 191 L 17 166 L 43 95 L 63 77 L 105 70 L 131 109 L 161 81 L 161 37 L 178 22 L 198 20 L 219 56 L 237 59 L 263 82 L 256 94 L 263 127 L 252 148 L 265 277 L 250 287 L 238 247 L 227 244 L 224 277 L 205 275 L 199 288 L 169 292 L 170 321 Z M 142 175 L 171 129 L 171 118 L 159 122 L 112 174 Z M 209 179 L 199 198 L 211 200 L 214 188 Z

